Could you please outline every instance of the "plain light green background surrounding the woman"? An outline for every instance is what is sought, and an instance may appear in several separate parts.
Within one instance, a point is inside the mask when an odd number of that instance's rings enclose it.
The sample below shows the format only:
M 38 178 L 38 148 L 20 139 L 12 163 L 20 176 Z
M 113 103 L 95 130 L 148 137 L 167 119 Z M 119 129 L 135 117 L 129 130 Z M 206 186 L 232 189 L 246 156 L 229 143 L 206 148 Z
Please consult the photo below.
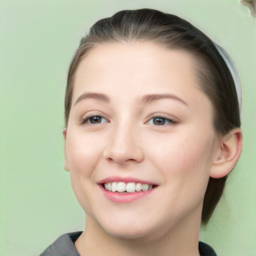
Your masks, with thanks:
M 238 0 L 0 0 L 0 256 L 38 255 L 84 213 L 63 170 L 66 71 L 99 18 L 151 7 L 184 17 L 233 57 L 242 83 L 241 158 L 201 240 L 256 253 L 256 23 Z

